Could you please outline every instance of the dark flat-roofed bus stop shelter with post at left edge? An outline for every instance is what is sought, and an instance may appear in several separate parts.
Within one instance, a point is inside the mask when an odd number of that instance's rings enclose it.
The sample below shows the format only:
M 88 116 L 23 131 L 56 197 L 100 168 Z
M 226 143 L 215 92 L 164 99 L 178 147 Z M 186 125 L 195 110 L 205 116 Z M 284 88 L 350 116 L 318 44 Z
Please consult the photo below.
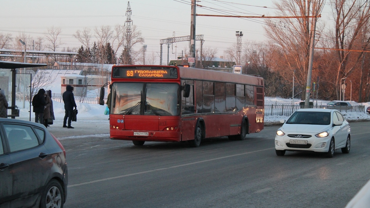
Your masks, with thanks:
M 11 105 L 8 107 L 8 109 L 11 109 L 11 114 L 8 115 L 8 117 L 15 118 L 16 116 L 19 116 L 19 110 L 16 109 L 17 69 L 18 68 L 30 68 L 30 67 L 45 67 L 45 66 L 47 66 L 47 64 L 31 64 L 31 63 L 12 62 L 12 61 L 0 61 L 0 68 L 10 69 L 11 71 Z

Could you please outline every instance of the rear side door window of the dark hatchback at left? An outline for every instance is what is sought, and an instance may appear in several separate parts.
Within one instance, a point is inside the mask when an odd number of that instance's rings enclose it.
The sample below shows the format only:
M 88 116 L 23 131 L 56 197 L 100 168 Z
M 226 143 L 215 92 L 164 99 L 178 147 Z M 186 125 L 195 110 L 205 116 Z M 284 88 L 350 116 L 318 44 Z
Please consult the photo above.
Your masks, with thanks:
M 26 150 L 39 145 L 34 131 L 29 126 L 4 124 L 11 152 Z

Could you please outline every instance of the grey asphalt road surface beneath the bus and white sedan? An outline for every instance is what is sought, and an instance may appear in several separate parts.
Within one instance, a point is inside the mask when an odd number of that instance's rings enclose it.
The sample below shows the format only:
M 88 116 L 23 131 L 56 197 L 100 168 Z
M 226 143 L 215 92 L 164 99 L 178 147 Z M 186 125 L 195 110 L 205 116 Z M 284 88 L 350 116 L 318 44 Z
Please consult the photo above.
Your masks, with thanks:
M 370 180 L 370 122 L 350 123 L 349 154 L 275 154 L 279 126 L 245 141 L 60 140 L 67 151 L 65 208 L 343 208 Z

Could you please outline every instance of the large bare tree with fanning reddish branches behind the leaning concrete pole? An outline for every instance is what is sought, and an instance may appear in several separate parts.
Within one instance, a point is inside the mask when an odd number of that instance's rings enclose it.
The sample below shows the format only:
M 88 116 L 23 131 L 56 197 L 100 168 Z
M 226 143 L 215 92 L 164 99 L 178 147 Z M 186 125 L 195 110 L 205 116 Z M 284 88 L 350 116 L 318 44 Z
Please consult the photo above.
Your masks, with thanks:
M 315 28 L 313 21 L 317 18 L 298 18 L 315 16 L 321 13 L 323 0 L 281 0 L 275 2 L 277 16 L 295 16 L 293 19 L 280 19 L 279 23 L 266 20 L 266 36 L 281 48 L 281 54 L 276 60 L 279 68 L 274 70 L 295 71 L 296 81 L 302 86 L 302 100 L 305 99 L 305 87 L 309 62 L 310 38 Z M 304 88 L 304 89 L 303 89 Z

